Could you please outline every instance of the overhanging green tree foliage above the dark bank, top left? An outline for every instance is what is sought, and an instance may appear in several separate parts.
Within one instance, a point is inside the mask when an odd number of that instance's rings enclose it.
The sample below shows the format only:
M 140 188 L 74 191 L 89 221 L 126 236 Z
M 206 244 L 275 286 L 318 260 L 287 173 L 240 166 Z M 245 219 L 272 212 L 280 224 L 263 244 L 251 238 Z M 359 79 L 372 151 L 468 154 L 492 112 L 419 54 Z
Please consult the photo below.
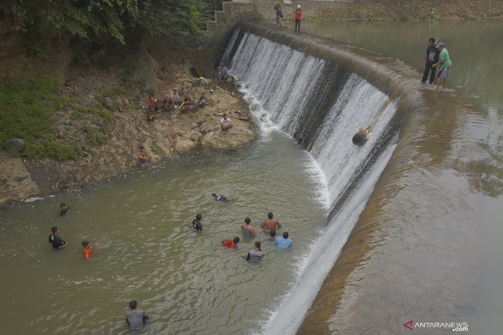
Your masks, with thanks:
M 17 28 L 31 36 L 108 34 L 125 43 L 125 27 L 153 35 L 198 34 L 211 17 L 213 0 L 10 0 Z

